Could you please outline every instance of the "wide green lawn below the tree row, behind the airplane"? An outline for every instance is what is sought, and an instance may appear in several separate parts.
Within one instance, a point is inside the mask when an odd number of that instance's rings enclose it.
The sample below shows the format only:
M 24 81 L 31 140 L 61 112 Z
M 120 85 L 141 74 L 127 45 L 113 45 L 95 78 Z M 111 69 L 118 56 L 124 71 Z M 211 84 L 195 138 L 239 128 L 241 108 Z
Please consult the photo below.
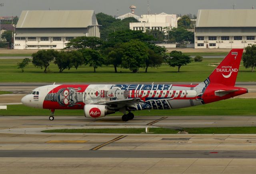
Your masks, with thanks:
M 138 73 L 131 73 L 129 69 L 118 68 L 119 73 L 114 73 L 114 67 L 103 66 L 96 69 L 88 66 L 71 68 L 59 73 L 58 67 L 52 62 L 49 73 L 44 73 L 42 69 L 34 67 L 30 63 L 21 73 L 17 69 L 17 63 L 21 59 L 0 59 L 0 82 L 199 82 L 204 81 L 216 68 L 209 65 L 218 63 L 223 58 L 205 58 L 202 62 L 192 62 L 182 66 L 178 73 L 177 67 L 169 67 L 163 64 L 158 68 L 148 68 L 148 73 L 144 73 L 143 68 Z M 122 71 L 122 73 L 120 73 Z M 121 77 L 121 78 L 120 78 Z M 256 73 L 250 69 L 240 67 L 237 81 L 255 81 Z

